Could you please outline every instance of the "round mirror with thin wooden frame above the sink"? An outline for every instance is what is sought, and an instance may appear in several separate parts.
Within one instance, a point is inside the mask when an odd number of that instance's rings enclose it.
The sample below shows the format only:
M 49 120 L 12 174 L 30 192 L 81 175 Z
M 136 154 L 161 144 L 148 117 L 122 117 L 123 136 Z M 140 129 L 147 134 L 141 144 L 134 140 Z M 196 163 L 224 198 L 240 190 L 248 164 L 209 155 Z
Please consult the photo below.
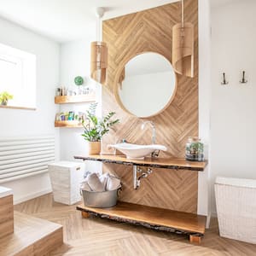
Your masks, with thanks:
M 121 108 L 140 118 L 164 111 L 176 92 L 176 74 L 163 55 L 148 52 L 133 57 L 119 73 L 116 99 Z

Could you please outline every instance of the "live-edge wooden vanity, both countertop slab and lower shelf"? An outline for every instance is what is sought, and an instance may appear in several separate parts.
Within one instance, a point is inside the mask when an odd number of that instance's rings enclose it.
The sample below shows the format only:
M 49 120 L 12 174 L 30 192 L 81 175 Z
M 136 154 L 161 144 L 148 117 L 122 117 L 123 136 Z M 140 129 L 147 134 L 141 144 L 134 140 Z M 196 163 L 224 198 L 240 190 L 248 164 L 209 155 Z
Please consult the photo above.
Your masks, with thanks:
M 104 163 L 113 163 L 128 166 L 146 166 L 171 169 L 170 172 L 189 170 L 202 172 L 207 161 L 191 162 L 178 158 L 145 158 L 144 160 L 126 159 L 122 155 L 96 154 L 88 156 L 75 156 L 78 160 L 96 160 Z M 140 224 L 154 230 L 165 230 L 189 236 L 191 242 L 200 242 L 205 234 L 206 216 L 189 212 L 177 212 L 159 207 L 148 207 L 133 203 L 119 201 L 115 207 L 92 208 L 80 205 L 77 210 L 82 212 L 83 218 L 91 215 L 109 218 L 120 222 Z

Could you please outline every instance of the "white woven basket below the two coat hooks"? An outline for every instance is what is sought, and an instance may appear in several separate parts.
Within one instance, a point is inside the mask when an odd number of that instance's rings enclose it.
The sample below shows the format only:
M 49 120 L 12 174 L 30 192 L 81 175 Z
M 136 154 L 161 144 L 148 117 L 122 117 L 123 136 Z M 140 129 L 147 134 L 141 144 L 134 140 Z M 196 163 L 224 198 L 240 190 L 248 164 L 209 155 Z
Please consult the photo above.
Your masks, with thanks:
M 219 235 L 256 244 L 256 180 L 217 177 Z

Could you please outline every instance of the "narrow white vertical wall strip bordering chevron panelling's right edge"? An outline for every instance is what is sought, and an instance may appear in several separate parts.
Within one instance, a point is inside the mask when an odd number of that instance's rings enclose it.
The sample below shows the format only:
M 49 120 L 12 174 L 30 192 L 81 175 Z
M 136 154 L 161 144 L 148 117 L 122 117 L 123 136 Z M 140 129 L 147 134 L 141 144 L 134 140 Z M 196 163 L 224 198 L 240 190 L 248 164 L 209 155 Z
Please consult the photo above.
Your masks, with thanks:
M 211 93 L 211 26 L 210 26 L 210 2 L 199 0 L 199 136 L 205 143 L 206 158 L 210 152 L 210 93 Z M 197 212 L 206 215 L 209 224 L 210 191 L 209 178 L 211 172 L 211 160 L 204 172 L 198 173 L 198 207 Z

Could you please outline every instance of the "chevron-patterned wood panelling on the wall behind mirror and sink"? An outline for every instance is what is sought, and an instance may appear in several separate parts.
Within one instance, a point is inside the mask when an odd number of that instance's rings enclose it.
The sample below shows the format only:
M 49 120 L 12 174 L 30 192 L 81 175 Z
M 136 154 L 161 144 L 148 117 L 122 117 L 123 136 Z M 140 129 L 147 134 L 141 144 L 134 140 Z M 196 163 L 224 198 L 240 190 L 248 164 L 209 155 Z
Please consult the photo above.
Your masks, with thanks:
M 184 157 L 187 137 L 198 136 L 197 8 L 197 0 L 185 1 L 185 21 L 195 25 L 195 78 L 177 75 L 177 93 L 171 105 L 149 119 L 156 126 L 156 142 L 168 147 L 167 153 L 161 153 L 164 157 Z M 180 22 L 180 3 L 103 21 L 103 40 L 108 44 L 108 81 L 102 86 L 102 108 L 104 114 L 115 111 L 120 119 L 120 124 L 103 139 L 103 153 L 109 153 L 108 143 L 122 138 L 131 143 L 151 143 L 150 129 L 142 131 L 143 119 L 119 107 L 113 88 L 119 79 L 117 73 L 134 55 L 153 51 L 172 60 L 172 26 L 177 22 Z M 141 188 L 134 190 L 131 167 L 108 164 L 104 170 L 122 178 L 122 201 L 183 212 L 197 211 L 197 172 L 155 169 L 150 177 L 143 179 Z

